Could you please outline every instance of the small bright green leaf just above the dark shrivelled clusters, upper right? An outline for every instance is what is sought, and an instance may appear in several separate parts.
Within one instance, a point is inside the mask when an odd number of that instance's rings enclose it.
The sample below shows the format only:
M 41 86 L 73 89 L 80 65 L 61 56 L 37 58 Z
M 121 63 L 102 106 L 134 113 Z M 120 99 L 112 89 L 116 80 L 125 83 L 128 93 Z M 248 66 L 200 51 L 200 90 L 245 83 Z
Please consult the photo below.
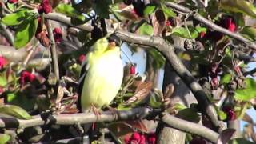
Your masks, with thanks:
M 194 39 L 198 37 L 198 31 L 193 26 L 188 26 L 188 29 L 190 30 L 191 37 L 190 37 L 189 31 L 184 27 L 175 27 L 172 30 L 172 34 L 182 38 L 190 38 L 190 39 Z

